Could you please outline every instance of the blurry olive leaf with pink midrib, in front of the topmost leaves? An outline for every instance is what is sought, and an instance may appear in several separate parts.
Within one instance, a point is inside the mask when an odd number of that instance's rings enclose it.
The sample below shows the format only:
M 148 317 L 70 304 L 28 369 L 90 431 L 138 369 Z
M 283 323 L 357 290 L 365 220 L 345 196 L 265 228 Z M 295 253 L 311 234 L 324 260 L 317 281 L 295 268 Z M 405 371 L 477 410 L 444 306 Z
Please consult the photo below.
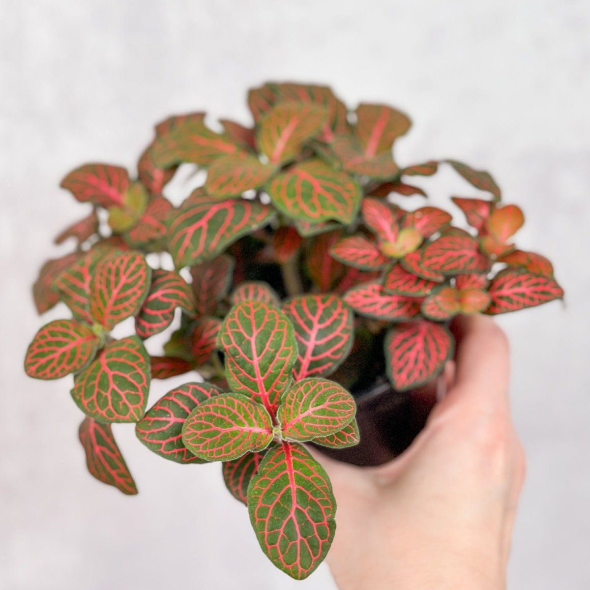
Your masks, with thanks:
M 280 103 L 260 123 L 258 149 L 271 164 L 284 164 L 298 155 L 304 142 L 322 129 L 327 110 L 314 104 Z

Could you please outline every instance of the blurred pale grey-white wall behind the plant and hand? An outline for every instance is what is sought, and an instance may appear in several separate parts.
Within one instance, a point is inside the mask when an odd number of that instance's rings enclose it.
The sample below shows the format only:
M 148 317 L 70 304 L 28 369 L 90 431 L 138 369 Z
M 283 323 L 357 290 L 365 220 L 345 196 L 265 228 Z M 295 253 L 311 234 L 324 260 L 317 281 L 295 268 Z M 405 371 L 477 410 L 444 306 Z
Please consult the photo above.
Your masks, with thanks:
M 98 483 L 71 378 L 21 368 L 37 328 L 65 311 L 39 319 L 31 284 L 86 211 L 61 177 L 91 161 L 133 171 L 169 114 L 250 123 L 246 90 L 266 80 L 407 111 L 399 163 L 463 160 L 525 210 L 519 246 L 551 258 L 566 306 L 498 320 L 528 456 L 509 588 L 590 587 L 587 1 L 0 0 L 0 15 L 0 588 L 334 588 L 325 566 L 304 582 L 274 569 L 219 466 L 162 460 L 130 425 L 113 431 L 139 496 Z M 447 171 L 417 184 L 439 203 L 472 194 Z M 183 381 L 156 382 L 149 404 Z

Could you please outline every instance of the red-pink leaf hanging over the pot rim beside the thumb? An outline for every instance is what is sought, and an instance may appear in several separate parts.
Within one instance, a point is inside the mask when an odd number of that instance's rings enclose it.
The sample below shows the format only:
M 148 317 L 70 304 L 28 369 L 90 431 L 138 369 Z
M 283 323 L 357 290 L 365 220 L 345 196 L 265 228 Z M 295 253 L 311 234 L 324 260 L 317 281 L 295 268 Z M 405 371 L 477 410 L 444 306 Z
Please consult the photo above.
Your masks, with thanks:
M 442 371 L 454 340 L 440 324 L 418 320 L 394 326 L 385 338 L 389 379 L 398 391 L 417 388 Z

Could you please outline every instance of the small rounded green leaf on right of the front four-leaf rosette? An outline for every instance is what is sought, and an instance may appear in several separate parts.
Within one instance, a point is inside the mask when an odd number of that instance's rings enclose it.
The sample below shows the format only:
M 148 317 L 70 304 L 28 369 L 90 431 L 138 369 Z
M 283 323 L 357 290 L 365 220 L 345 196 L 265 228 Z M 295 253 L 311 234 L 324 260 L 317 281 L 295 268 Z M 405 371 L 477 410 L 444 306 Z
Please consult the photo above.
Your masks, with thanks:
M 327 379 L 303 379 L 281 397 L 277 419 L 286 440 L 310 441 L 348 425 L 356 404 L 346 389 Z

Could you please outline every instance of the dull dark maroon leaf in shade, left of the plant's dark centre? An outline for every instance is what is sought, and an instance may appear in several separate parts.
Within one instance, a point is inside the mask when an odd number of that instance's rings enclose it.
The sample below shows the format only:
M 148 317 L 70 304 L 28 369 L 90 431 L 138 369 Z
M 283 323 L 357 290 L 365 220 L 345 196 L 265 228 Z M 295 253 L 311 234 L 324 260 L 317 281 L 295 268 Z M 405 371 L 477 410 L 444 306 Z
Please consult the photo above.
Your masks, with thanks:
M 219 301 L 230 290 L 233 272 L 234 259 L 227 254 L 205 260 L 191 268 L 192 290 L 198 316 L 211 316 L 215 313 Z

